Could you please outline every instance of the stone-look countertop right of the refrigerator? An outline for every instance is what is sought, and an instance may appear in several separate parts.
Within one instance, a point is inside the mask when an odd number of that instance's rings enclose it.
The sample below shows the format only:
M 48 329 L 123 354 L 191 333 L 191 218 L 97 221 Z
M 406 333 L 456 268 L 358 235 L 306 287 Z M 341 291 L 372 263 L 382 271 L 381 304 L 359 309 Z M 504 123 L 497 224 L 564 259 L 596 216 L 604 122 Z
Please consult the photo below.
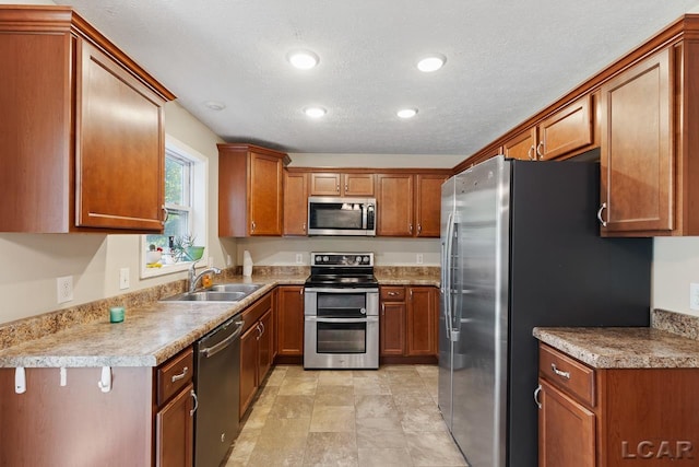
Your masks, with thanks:
M 699 340 L 651 327 L 536 327 L 533 335 L 595 369 L 699 367 Z

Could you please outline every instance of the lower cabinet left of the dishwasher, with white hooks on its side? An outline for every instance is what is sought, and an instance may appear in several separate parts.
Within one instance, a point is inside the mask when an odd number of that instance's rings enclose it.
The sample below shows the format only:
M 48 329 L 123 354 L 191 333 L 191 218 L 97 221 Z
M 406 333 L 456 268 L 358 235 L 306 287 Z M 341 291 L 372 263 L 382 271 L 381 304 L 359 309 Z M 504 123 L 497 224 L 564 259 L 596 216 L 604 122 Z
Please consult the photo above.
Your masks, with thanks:
M 191 466 L 191 347 L 155 369 L 112 366 L 107 393 L 102 367 L 66 369 L 66 386 L 57 367 L 25 372 L 15 394 L 14 369 L 0 369 L 0 445 L 12 446 L 0 465 Z

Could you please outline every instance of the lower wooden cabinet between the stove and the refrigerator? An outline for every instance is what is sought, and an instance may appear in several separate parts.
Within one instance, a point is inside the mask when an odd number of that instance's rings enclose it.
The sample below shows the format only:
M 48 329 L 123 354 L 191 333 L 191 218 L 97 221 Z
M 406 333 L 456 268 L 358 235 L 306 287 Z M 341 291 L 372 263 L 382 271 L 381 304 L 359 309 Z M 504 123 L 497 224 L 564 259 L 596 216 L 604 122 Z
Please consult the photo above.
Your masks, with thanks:
M 437 355 L 438 300 L 434 287 L 381 287 L 380 355 Z

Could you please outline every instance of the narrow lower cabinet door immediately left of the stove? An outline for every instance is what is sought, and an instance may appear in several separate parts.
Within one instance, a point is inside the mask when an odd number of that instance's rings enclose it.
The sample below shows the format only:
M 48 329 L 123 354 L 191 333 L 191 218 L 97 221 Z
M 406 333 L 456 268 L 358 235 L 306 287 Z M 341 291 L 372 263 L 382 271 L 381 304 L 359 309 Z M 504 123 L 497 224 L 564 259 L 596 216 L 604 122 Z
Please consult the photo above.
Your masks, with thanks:
M 281 287 L 276 314 L 280 355 L 304 354 L 304 288 Z

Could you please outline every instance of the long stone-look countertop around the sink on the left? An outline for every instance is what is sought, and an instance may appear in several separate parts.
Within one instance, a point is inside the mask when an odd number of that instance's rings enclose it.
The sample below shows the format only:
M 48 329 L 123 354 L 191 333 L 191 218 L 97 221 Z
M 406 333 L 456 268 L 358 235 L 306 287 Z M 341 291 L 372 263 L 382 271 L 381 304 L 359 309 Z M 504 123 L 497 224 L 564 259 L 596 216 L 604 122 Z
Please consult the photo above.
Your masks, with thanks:
M 0 350 L 0 367 L 157 366 L 242 312 L 277 284 L 304 284 L 304 277 L 261 277 L 226 282 L 263 283 L 236 303 L 152 302 L 127 307 L 122 323 L 104 318 Z

